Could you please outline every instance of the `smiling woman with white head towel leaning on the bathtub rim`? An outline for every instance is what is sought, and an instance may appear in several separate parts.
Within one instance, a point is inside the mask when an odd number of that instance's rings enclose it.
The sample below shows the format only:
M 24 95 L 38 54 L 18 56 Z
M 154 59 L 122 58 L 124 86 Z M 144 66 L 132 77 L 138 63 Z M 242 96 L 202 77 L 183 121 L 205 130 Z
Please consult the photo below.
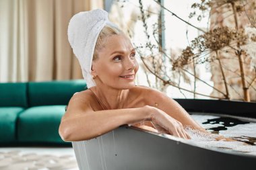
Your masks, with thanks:
M 135 85 L 135 49 L 107 15 L 96 9 L 74 15 L 69 23 L 69 42 L 88 89 L 69 101 L 59 126 L 63 140 L 88 140 L 123 124 L 185 139 L 190 138 L 185 126 L 206 132 L 164 93 Z

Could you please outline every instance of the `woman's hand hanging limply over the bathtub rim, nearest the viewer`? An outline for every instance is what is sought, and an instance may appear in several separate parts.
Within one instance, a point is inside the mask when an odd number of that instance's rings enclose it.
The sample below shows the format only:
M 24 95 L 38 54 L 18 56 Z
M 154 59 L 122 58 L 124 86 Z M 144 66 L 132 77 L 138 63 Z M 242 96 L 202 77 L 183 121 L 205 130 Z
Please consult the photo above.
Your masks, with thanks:
M 171 134 L 180 138 L 190 139 L 189 134 L 183 128 L 183 124 L 175 120 L 164 111 L 152 106 L 145 106 L 150 113 L 149 121 L 152 122 L 156 130 L 160 133 Z

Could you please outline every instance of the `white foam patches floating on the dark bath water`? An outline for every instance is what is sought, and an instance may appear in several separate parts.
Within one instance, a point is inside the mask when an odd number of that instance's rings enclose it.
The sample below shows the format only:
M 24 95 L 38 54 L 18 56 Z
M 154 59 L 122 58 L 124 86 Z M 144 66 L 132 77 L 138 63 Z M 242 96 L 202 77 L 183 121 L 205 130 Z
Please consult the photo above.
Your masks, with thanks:
M 203 128 L 215 128 L 224 126 L 224 122 L 220 122 L 220 124 L 202 124 L 203 122 L 207 122 L 207 120 L 220 118 L 219 116 L 209 116 L 209 115 L 191 115 L 193 119 L 197 123 L 199 123 Z M 214 121 L 212 121 L 214 123 Z M 234 124 L 234 122 L 230 122 L 230 124 Z M 256 142 L 255 145 L 249 145 L 245 142 L 249 141 L 249 138 L 256 138 L 256 123 L 249 124 L 239 124 L 232 127 L 226 127 L 228 130 L 221 130 L 221 136 L 226 138 L 238 138 L 238 140 L 244 141 L 224 141 L 224 140 L 216 140 L 220 136 L 220 134 L 211 134 L 204 133 L 199 130 L 194 130 L 189 128 L 189 126 L 185 127 L 186 132 L 191 136 L 191 140 L 186 140 L 187 142 L 200 146 L 203 148 L 222 148 L 224 150 L 248 154 L 248 155 L 256 155 Z M 208 132 L 212 130 L 207 130 Z M 166 137 L 170 135 L 165 135 Z M 171 137 L 170 137 L 171 138 Z

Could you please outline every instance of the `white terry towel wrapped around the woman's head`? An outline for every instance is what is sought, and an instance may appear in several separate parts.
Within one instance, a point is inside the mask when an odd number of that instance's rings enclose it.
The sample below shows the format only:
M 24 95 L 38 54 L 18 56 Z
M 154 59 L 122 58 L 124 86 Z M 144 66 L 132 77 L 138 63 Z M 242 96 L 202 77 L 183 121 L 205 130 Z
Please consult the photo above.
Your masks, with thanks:
M 92 57 L 98 35 L 106 25 L 117 28 L 108 21 L 108 13 L 103 9 L 79 12 L 73 15 L 69 22 L 67 29 L 69 43 L 79 60 L 88 88 L 96 85 L 91 75 Z

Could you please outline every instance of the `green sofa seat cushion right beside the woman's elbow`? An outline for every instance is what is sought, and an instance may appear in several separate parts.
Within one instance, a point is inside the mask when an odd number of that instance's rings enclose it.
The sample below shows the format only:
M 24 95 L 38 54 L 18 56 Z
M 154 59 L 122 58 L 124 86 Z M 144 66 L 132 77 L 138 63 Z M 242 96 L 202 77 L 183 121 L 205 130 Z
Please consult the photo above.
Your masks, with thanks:
M 46 105 L 28 108 L 18 118 L 18 141 L 63 142 L 59 124 L 65 105 Z

